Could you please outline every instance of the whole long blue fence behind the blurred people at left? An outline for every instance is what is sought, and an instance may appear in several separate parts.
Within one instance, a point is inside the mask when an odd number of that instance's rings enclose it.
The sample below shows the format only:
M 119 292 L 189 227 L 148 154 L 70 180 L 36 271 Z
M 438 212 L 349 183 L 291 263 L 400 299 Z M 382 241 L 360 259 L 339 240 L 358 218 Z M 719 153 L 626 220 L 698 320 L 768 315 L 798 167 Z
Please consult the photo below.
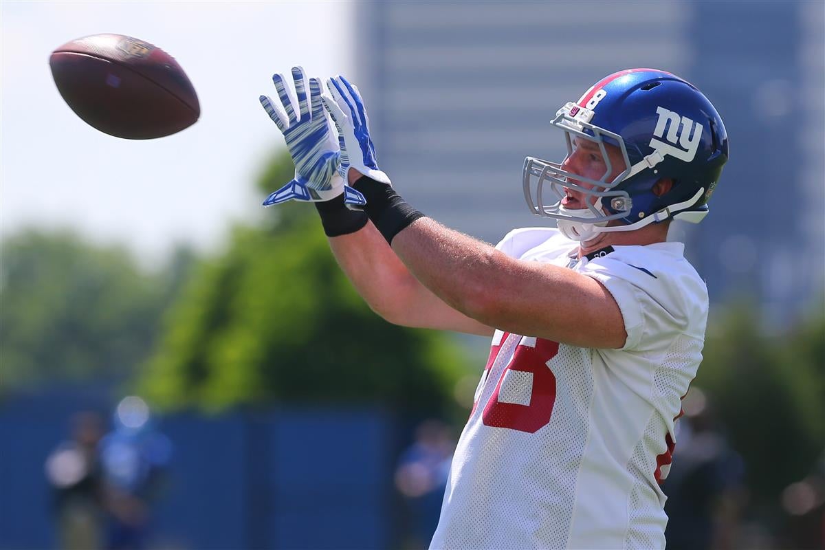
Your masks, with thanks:
M 44 464 L 89 395 L 0 405 L 0 548 L 55 548 Z M 104 416 L 106 417 L 106 416 Z M 393 422 L 375 410 L 166 416 L 172 460 L 148 548 L 389 548 Z

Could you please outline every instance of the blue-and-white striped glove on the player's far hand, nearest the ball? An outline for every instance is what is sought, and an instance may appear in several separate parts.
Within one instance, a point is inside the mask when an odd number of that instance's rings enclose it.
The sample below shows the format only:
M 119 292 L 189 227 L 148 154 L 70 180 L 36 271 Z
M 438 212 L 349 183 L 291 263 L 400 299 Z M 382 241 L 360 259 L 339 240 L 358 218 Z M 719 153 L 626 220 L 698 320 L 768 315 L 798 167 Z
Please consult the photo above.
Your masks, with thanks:
M 347 186 L 346 180 L 338 170 L 341 164 L 341 151 L 323 109 L 321 82 L 318 78 L 309 79 L 307 101 L 304 69 L 293 67 L 292 78 L 295 81 L 295 92 L 285 84 L 283 75 L 272 76 L 281 105 L 267 96 L 259 98 L 266 114 L 284 134 L 286 148 L 290 152 L 292 162 L 295 163 L 295 179 L 266 197 L 264 206 L 280 204 L 287 200 L 331 200 L 342 193 L 346 204 L 363 206 L 366 204 L 364 196 Z M 296 102 L 299 107 L 298 117 L 295 115 Z

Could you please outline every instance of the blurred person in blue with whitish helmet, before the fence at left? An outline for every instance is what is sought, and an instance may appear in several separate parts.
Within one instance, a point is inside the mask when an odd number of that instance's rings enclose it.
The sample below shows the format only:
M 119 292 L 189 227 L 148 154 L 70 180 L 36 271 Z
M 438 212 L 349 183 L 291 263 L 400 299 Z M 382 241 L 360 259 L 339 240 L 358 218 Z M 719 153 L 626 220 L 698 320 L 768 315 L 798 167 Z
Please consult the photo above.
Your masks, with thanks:
M 139 550 L 147 542 L 151 506 L 158 498 L 172 443 L 153 425 L 140 397 L 125 397 L 114 429 L 101 440 L 101 468 L 107 488 L 106 548 Z

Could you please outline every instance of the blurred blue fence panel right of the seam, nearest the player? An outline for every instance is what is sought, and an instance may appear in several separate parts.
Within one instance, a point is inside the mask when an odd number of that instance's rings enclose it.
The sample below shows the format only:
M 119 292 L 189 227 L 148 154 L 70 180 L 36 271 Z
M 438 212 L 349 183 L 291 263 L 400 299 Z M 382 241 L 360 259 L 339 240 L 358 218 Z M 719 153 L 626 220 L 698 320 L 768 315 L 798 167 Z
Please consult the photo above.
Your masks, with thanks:
M 272 425 L 274 548 L 388 548 L 389 422 L 375 411 L 282 411 Z

